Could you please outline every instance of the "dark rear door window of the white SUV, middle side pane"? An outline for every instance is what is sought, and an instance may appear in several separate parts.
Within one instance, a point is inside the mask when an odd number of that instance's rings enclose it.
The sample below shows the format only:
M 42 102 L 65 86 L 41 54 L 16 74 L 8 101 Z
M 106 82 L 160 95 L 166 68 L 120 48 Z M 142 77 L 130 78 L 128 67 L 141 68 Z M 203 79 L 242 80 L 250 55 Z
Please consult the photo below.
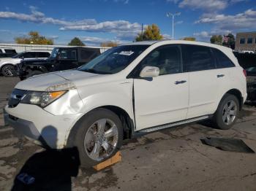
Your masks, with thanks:
M 182 56 L 185 72 L 216 69 L 209 47 L 182 45 Z

